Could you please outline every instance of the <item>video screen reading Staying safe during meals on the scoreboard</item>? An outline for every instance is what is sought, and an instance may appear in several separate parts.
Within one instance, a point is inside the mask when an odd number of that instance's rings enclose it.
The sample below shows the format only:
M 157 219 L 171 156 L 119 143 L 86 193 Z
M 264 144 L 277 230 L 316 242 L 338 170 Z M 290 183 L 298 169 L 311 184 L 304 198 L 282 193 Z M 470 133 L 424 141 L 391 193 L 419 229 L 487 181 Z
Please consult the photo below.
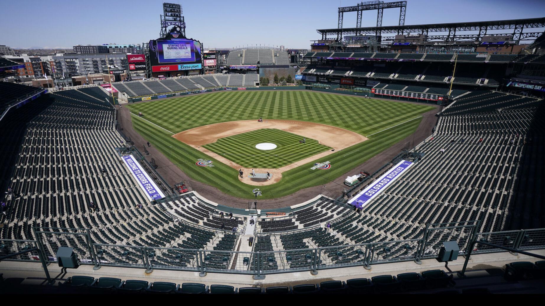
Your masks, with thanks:
M 192 40 L 158 40 L 159 63 L 196 62 L 195 44 Z

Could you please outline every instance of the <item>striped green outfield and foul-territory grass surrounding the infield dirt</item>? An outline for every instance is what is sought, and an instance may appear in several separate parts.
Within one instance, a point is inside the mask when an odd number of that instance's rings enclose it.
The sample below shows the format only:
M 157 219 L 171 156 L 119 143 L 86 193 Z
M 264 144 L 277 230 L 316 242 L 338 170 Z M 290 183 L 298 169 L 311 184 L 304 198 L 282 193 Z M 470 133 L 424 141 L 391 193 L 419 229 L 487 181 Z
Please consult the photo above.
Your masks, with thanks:
M 421 119 L 411 119 L 433 109 L 432 106 L 315 91 L 259 90 L 201 94 L 131 104 L 128 107 L 132 113 L 142 112 L 145 119 L 173 133 L 213 123 L 263 117 L 328 124 L 346 128 L 369 138 L 365 142 L 326 157 L 326 160 L 331 162 L 331 169 L 310 169 L 313 163 L 323 162 L 322 160 L 298 164 L 298 167 L 284 172 L 280 182 L 259 186 L 263 194 L 262 199 L 283 197 L 299 189 L 323 185 L 337 179 L 358 164 L 364 163 L 414 133 Z M 405 121 L 408 122 L 404 123 Z M 249 199 L 253 197 L 251 191 L 255 187 L 240 182 L 237 170 L 181 143 L 163 128 L 136 116 L 132 117 L 132 123 L 137 132 L 192 179 L 217 187 L 220 191 L 235 197 Z M 290 156 L 282 157 L 288 162 L 297 161 Z M 196 166 L 198 158 L 214 161 L 215 167 Z

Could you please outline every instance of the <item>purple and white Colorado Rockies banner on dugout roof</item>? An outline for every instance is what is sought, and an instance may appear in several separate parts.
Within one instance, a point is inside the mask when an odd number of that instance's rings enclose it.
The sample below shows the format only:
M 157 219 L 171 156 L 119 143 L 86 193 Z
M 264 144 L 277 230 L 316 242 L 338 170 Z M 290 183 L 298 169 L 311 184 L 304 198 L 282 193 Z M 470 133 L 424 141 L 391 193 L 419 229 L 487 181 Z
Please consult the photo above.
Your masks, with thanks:
M 356 194 L 354 198 L 348 201 L 348 204 L 354 205 L 359 209 L 363 208 L 365 205 L 371 202 L 380 192 L 384 191 L 393 181 L 395 181 L 402 173 L 406 172 L 413 162 L 401 161 L 396 166 L 391 168 L 388 172 L 380 176 L 372 185 L 367 186 L 360 193 Z

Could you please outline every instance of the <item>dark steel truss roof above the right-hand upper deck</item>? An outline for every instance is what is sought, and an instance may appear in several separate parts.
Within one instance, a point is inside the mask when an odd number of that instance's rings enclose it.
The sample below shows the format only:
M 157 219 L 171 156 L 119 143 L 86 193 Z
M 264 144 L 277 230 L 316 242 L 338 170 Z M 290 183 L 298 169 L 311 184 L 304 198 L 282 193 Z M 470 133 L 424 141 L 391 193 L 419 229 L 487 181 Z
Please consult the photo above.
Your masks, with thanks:
M 358 28 L 337 28 L 337 29 L 318 29 L 325 40 L 329 36 L 336 36 L 337 41 L 341 41 L 343 35 L 360 34 L 403 34 L 403 33 L 422 33 L 428 35 L 429 40 L 455 41 L 461 39 L 479 40 L 487 35 L 488 30 L 512 29 L 512 33 L 493 33 L 494 35 L 513 35 L 513 40 L 519 42 L 529 38 L 537 38 L 541 32 L 524 32 L 525 29 L 545 28 L 545 17 L 514 20 L 495 20 L 495 21 L 476 21 L 476 22 L 454 22 L 454 23 L 433 23 L 429 25 L 401 25 L 385 27 L 358 27 Z M 478 31 L 475 34 L 458 34 L 458 32 Z M 447 35 L 429 35 L 428 33 L 448 33 Z M 490 33 L 492 34 L 492 33 Z M 393 36 L 383 37 L 382 41 L 392 41 Z

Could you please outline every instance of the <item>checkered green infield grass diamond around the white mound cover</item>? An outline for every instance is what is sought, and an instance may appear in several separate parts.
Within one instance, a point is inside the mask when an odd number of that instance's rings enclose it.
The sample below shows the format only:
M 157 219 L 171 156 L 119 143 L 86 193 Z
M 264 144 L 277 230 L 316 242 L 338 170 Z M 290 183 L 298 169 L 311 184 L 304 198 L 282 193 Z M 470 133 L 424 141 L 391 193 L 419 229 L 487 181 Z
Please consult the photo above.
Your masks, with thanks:
M 277 128 L 262 128 L 217 139 L 215 143 L 204 145 L 204 148 L 246 168 L 280 168 L 292 163 L 290 161 L 300 161 L 331 149 L 310 138 L 306 138 L 304 144 L 299 143 L 304 137 Z M 277 148 L 256 149 L 256 144 L 264 142 L 274 143 Z

